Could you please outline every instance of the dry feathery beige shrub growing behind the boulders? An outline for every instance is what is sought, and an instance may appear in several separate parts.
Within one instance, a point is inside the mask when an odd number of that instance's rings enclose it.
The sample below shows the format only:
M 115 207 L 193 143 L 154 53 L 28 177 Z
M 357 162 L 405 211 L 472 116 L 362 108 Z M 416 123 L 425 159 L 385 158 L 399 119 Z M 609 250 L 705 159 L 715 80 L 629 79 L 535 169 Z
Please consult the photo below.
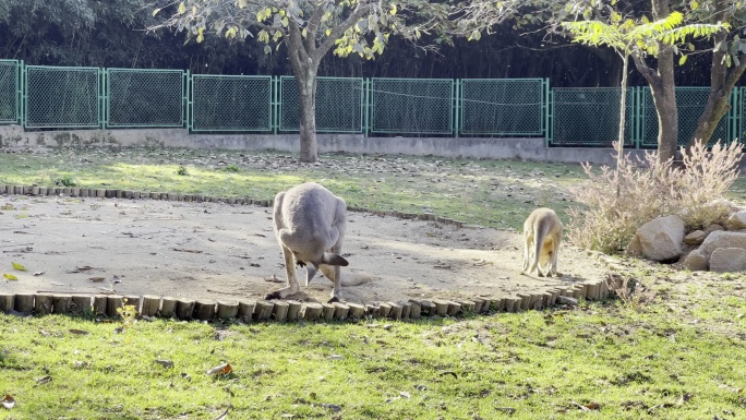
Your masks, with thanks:
M 568 211 L 567 238 L 578 247 L 615 253 L 629 242 L 637 229 L 659 216 L 678 214 L 688 228 L 700 228 L 723 218 L 731 211 L 718 202 L 738 178 L 741 145 L 718 142 L 682 148 L 681 167 L 673 160 L 659 161 L 646 152 L 635 159 L 618 158 L 617 167 L 582 166 L 588 181 L 573 190 L 585 208 Z

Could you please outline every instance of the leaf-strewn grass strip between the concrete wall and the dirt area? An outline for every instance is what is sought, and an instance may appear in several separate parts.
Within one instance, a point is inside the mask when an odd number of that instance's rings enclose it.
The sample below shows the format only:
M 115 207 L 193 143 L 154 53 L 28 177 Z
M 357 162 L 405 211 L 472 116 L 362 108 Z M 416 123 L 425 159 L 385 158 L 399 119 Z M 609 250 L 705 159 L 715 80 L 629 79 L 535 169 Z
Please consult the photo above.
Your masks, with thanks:
M 0 183 L 182 192 L 273 199 L 316 181 L 348 204 L 371 209 L 432 212 L 484 226 L 519 229 L 537 206 L 564 215 L 578 165 L 406 156 L 322 155 L 301 164 L 279 153 L 142 148 L 49 151 L 0 155 Z

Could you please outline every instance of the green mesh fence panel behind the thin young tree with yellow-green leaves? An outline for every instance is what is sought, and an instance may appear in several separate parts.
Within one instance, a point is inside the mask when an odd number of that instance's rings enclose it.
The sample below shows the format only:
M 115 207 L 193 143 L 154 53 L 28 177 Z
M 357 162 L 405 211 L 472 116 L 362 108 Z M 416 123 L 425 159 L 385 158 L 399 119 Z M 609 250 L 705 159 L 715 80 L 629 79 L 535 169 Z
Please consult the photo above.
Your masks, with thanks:
M 621 88 L 564 87 L 552 89 L 551 144 L 610 146 L 618 139 Z M 636 89 L 627 88 L 625 145 L 637 139 Z

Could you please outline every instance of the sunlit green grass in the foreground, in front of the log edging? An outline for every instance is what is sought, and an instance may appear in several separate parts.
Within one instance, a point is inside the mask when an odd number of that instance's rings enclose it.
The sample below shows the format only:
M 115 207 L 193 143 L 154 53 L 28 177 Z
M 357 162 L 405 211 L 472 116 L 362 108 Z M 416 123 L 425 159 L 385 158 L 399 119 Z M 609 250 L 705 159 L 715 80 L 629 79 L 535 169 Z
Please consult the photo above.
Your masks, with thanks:
M 744 418 L 744 290 L 698 292 L 687 314 L 667 287 L 645 304 L 414 323 L 159 320 L 117 333 L 0 315 L 0 392 L 13 419 Z M 230 374 L 205 373 L 224 362 Z

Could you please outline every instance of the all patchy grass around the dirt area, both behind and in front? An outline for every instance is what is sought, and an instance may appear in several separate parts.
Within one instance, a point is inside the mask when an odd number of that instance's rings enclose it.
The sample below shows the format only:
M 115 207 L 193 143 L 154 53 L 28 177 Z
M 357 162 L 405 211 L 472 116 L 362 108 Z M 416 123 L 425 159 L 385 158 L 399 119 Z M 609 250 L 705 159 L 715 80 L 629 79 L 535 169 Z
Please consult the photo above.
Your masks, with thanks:
M 179 167 L 185 168 L 179 175 Z M 0 155 L 0 183 L 270 199 L 314 180 L 348 203 L 519 228 L 573 205 L 575 165 L 278 153 Z M 743 178 L 733 188 L 746 192 Z M 562 212 L 561 212 L 562 214 Z M 221 325 L 0 314 L 11 419 L 746 418 L 746 277 L 625 261 L 639 285 L 578 309 L 420 322 Z M 88 334 L 75 334 L 71 331 Z M 155 360 L 169 360 L 165 368 Z M 205 372 L 222 362 L 228 375 Z

